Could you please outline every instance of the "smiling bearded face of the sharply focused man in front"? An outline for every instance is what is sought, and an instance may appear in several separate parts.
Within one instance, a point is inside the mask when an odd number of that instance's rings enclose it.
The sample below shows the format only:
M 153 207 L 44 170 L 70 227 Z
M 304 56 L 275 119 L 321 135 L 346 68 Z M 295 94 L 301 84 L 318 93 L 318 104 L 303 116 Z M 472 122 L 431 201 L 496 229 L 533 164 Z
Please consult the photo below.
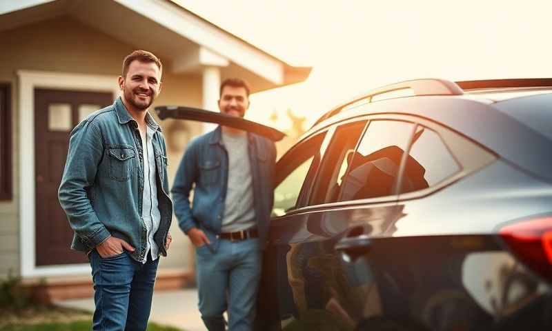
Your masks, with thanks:
M 146 110 L 161 91 L 161 72 L 154 62 L 130 62 L 126 77 L 119 77 L 124 99 L 137 110 Z

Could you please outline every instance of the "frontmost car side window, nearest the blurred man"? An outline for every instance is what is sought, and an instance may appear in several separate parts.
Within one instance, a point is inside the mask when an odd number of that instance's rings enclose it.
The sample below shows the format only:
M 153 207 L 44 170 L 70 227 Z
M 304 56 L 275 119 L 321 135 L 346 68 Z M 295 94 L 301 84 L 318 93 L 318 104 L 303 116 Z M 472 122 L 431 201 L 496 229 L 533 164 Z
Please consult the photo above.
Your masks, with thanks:
M 325 134 L 299 143 L 278 161 L 276 167 L 276 188 L 274 190 L 273 217 L 286 214 L 299 207 L 303 187 L 308 188 L 321 158 L 321 146 Z

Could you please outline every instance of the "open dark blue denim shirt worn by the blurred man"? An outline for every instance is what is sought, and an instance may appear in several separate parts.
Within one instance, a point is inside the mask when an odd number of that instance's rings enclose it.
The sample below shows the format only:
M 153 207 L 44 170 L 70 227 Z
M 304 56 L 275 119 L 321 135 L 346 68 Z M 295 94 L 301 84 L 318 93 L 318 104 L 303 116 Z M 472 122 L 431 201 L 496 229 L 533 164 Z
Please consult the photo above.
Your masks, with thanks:
M 276 148 L 272 141 L 248 133 L 248 154 L 253 179 L 253 205 L 262 248 L 274 203 L 274 168 Z M 193 204 L 190 190 L 195 184 Z M 217 250 L 221 232 L 224 201 L 228 185 L 228 152 L 221 142 L 221 127 L 190 142 L 172 185 L 172 199 L 179 226 L 184 232 L 203 230 L 210 249 Z

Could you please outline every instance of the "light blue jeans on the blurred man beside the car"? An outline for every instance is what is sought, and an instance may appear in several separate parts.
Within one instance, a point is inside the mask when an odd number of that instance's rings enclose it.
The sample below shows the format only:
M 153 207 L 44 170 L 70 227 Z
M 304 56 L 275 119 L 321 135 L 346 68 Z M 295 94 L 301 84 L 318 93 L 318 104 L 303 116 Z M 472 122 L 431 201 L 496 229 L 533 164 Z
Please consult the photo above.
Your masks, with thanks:
M 224 330 L 227 309 L 228 330 L 253 330 L 262 261 L 259 239 L 221 239 L 217 252 L 203 245 L 195 256 L 199 312 L 208 330 Z

